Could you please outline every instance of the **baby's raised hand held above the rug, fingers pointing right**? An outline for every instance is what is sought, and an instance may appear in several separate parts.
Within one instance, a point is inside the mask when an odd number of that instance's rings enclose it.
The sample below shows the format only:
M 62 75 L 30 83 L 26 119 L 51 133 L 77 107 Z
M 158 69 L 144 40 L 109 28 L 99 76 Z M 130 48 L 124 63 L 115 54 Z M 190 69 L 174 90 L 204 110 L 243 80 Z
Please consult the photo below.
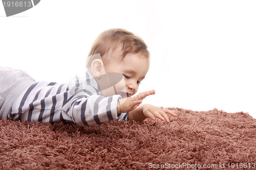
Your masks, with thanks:
M 136 109 L 141 103 L 142 100 L 148 95 L 155 94 L 155 90 L 144 91 L 130 98 L 124 98 L 118 100 L 118 113 L 126 113 Z

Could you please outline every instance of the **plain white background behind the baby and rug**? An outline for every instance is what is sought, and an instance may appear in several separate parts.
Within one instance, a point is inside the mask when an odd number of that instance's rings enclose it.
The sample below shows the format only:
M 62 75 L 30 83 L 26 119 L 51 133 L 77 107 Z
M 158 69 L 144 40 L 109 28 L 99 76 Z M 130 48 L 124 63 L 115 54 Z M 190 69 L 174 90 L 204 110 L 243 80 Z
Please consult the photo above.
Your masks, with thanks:
M 156 94 L 144 103 L 256 118 L 255 9 L 256 1 L 41 0 L 6 17 L 0 4 L 0 66 L 66 83 L 86 70 L 99 33 L 123 28 L 151 52 L 139 91 Z

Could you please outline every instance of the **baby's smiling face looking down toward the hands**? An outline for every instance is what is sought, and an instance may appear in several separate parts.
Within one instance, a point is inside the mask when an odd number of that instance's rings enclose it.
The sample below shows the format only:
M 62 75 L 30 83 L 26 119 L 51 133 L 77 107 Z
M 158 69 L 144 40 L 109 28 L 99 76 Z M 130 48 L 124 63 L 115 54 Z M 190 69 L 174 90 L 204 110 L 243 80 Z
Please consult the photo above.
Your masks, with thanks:
M 149 59 L 140 57 L 139 54 L 127 54 L 123 61 L 120 57 L 113 57 L 107 64 L 104 64 L 106 73 L 118 72 L 123 75 L 122 80 L 115 85 L 117 94 L 120 94 L 122 98 L 130 97 L 137 92 L 149 67 Z M 101 93 L 105 96 L 110 95 L 106 91 L 101 91 Z

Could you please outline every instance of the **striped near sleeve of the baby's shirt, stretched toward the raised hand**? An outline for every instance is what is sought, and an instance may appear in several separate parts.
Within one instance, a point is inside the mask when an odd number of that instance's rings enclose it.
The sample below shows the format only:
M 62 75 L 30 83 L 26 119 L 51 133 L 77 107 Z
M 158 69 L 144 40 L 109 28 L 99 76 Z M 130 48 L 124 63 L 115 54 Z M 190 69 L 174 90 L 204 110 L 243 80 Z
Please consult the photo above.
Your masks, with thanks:
M 74 81 L 73 81 L 74 82 Z M 110 120 L 126 120 L 128 113 L 117 114 L 121 95 L 104 97 L 94 86 L 81 82 L 70 83 L 69 92 L 73 96 L 67 113 L 79 126 L 100 125 Z

